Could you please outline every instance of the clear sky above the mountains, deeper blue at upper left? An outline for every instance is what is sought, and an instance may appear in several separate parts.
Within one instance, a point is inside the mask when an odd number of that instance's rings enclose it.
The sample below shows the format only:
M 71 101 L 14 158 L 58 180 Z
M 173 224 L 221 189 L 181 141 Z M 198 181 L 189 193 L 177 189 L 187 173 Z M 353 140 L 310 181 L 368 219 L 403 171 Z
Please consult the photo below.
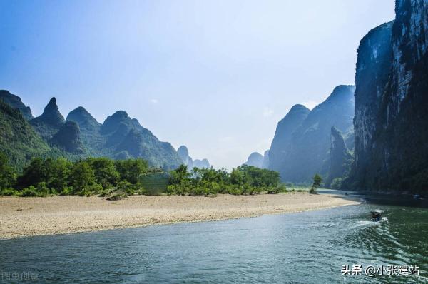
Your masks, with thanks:
M 394 0 L 0 0 L 0 88 L 39 115 L 127 111 L 193 158 L 236 166 L 270 147 L 296 103 L 354 81 Z

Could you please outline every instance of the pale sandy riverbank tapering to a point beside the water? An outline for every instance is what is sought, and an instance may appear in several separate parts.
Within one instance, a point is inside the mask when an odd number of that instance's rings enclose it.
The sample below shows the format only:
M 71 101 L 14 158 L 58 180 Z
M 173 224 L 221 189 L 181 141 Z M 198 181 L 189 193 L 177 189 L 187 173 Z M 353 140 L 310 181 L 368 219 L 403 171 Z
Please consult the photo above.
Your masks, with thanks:
M 330 195 L 0 197 L 0 238 L 54 235 L 143 225 L 222 220 L 358 204 Z

